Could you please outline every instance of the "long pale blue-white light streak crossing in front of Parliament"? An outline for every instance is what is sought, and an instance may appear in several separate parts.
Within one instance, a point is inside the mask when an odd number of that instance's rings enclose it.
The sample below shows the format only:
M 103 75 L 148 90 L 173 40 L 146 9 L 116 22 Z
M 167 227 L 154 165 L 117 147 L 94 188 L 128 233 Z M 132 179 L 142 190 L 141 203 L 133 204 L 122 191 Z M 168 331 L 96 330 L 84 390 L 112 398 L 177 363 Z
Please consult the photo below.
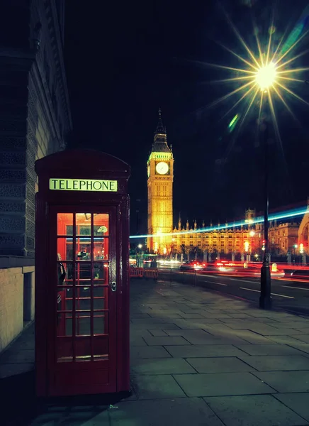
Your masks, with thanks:
M 269 215 L 269 222 L 273 220 L 288 219 L 289 217 L 303 216 L 303 214 L 309 213 L 308 207 L 302 207 L 300 209 L 291 209 L 286 210 L 286 212 L 274 213 Z M 200 229 L 191 229 L 189 231 L 176 231 L 176 232 L 160 232 L 159 234 L 145 234 L 145 235 L 130 235 L 130 239 L 138 238 L 149 238 L 152 236 L 168 236 L 168 235 L 186 235 L 186 234 L 200 234 L 201 232 L 211 232 L 211 231 L 220 231 L 221 229 L 228 228 L 237 228 L 239 226 L 252 225 L 252 224 L 261 224 L 264 222 L 264 216 L 256 217 L 250 222 L 247 220 L 240 220 L 238 222 L 230 222 L 225 225 L 218 226 L 206 226 L 205 228 Z

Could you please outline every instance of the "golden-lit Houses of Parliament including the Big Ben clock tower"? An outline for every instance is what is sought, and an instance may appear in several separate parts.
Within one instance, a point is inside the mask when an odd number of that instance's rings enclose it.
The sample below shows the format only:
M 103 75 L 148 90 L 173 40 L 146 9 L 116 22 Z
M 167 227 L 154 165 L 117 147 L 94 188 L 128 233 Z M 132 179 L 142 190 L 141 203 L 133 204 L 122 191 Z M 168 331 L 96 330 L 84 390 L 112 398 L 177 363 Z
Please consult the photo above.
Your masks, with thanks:
M 206 231 L 205 224 L 196 221 L 179 222 L 173 227 L 173 178 L 174 157 L 172 146 L 167 144 L 167 131 L 162 124 L 161 110 L 154 132 L 154 142 L 147 160 L 147 249 L 159 255 L 176 253 L 216 253 L 244 255 L 262 253 L 263 225 L 254 223 L 255 210 L 247 209 L 242 225 L 213 226 Z M 303 241 L 308 247 L 309 210 L 301 224 L 296 222 L 269 223 L 269 249 L 276 254 L 295 253 L 296 244 Z

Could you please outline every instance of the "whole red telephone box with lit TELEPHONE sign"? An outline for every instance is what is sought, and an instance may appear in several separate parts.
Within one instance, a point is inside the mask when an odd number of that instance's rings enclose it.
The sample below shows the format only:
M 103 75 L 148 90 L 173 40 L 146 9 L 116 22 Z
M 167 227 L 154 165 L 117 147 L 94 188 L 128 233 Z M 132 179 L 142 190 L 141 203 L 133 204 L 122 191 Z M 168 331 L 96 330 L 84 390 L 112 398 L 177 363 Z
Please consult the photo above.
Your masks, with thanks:
M 130 167 L 106 153 L 35 162 L 38 396 L 130 390 Z

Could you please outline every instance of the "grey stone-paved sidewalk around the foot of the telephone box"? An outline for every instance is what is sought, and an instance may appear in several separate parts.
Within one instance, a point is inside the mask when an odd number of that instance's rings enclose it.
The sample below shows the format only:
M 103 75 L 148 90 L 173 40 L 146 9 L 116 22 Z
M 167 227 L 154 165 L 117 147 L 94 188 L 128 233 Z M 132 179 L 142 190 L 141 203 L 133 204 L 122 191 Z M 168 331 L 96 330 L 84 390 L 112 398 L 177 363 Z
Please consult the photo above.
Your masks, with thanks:
M 16 379 L 13 407 L 20 413 L 19 422 L 4 424 L 309 425 L 309 318 L 204 288 L 131 281 L 133 395 L 111 407 L 96 398 L 35 413 L 32 368 L 30 327 L 0 355 L 0 376 L 15 374 L 0 380 L 0 391 Z

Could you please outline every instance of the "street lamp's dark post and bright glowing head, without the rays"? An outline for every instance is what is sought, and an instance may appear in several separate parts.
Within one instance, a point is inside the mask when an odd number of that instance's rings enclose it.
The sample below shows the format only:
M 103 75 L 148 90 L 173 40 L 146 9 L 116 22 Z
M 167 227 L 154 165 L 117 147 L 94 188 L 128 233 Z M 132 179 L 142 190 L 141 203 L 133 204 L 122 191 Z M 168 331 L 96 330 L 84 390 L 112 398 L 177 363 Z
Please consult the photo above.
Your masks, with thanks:
M 259 68 L 256 74 L 256 83 L 259 85 L 263 97 L 268 94 L 276 80 L 276 67 L 273 63 L 268 63 Z M 262 103 L 261 103 L 262 104 Z M 259 137 L 262 139 L 264 150 L 264 241 L 265 249 L 261 268 L 261 293 L 259 297 L 259 307 L 261 309 L 271 309 L 271 273 L 269 268 L 269 182 L 268 182 L 268 128 L 263 111 L 259 117 Z

